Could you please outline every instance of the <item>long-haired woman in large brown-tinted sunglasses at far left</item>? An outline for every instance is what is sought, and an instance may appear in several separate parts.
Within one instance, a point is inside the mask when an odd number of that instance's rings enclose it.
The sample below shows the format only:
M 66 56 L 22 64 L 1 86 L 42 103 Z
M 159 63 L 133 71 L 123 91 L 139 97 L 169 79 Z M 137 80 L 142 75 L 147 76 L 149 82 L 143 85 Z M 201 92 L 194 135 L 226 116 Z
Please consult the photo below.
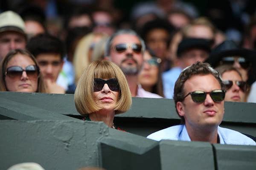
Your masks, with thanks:
M 0 65 L 0 91 L 46 92 L 38 63 L 29 51 L 10 51 Z

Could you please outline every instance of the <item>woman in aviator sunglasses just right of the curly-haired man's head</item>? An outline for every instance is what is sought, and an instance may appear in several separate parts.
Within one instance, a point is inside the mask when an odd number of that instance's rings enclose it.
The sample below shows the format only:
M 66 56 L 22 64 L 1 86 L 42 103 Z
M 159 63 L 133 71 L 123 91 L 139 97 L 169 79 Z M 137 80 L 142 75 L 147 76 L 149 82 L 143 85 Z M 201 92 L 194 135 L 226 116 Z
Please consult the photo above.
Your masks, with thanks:
M 245 102 L 247 83 L 243 81 L 241 73 L 232 65 L 221 65 L 215 69 L 221 74 L 226 88 L 225 101 Z

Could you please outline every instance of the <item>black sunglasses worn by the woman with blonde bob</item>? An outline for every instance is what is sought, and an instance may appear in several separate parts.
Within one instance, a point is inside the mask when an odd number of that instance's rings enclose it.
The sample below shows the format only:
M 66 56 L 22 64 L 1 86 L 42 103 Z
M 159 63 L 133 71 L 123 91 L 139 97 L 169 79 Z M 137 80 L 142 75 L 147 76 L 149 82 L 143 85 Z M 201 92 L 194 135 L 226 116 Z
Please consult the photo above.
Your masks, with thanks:
M 119 91 L 119 84 L 116 78 L 104 80 L 94 79 L 93 91 L 101 91 L 104 85 L 107 84 L 111 91 Z

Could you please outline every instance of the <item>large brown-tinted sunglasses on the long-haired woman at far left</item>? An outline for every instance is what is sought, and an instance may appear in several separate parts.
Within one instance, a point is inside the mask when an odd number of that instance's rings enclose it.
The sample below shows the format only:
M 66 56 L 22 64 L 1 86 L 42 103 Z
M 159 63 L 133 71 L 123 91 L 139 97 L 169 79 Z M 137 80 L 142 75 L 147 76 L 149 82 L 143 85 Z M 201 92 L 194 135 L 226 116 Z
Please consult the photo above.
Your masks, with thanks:
M 21 77 L 21 75 L 23 74 L 23 71 L 25 71 L 26 75 L 30 78 L 38 78 L 40 73 L 39 68 L 37 66 L 28 65 L 26 66 L 25 69 L 23 69 L 20 66 L 11 66 L 6 69 L 5 75 L 10 78 L 17 78 L 17 77 Z

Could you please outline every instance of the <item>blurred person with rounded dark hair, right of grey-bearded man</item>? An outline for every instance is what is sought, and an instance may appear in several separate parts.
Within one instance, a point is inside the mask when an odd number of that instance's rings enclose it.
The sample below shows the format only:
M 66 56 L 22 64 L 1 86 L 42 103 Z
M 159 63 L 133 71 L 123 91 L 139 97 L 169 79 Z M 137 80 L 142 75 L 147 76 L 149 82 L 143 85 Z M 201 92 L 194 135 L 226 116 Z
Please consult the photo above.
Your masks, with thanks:
M 146 45 L 154 51 L 156 57 L 162 59 L 161 71 L 167 71 L 170 68 L 170 63 L 166 56 L 172 31 L 174 31 L 174 28 L 169 24 L 168 20 L 160 19 L 145 23 L 141 30 L 141 35 Z

